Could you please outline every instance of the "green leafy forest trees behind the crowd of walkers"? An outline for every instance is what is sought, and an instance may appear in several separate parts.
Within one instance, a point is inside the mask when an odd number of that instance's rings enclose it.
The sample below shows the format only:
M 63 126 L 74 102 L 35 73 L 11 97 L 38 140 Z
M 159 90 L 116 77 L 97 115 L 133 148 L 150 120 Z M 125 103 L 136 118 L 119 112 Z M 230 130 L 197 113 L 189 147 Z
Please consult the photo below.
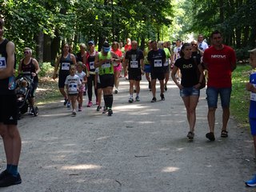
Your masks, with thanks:
M 0 0 L 5 37 L 18 57 L 28 46 L 40 63 L 55 61 L 64 42 L 78 51 L 80 42 L 137 40 L 143 50 L 149 39 L 186 42 L 220 30 L 238 60 L 255 47 L 255 0 Z

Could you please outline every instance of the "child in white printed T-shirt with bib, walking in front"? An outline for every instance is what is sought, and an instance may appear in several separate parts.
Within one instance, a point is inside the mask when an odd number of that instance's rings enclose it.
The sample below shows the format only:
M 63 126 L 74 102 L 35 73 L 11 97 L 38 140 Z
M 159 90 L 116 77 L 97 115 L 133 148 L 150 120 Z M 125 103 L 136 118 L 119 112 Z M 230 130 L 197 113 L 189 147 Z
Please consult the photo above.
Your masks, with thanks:
M 80 78 L 78 77 L 78 75 L 75 74 L 75 71 L 76 71 L 76 67 L 70 66 L 70 75 L 66 77 L 66 81 L 65 81 L 66 90 L 71 101 L 72 116 L 75 116 L 77 114 L 76 101 L 78 98 L 78 90 L 79 90 L 78 86 L 82 85 Z

